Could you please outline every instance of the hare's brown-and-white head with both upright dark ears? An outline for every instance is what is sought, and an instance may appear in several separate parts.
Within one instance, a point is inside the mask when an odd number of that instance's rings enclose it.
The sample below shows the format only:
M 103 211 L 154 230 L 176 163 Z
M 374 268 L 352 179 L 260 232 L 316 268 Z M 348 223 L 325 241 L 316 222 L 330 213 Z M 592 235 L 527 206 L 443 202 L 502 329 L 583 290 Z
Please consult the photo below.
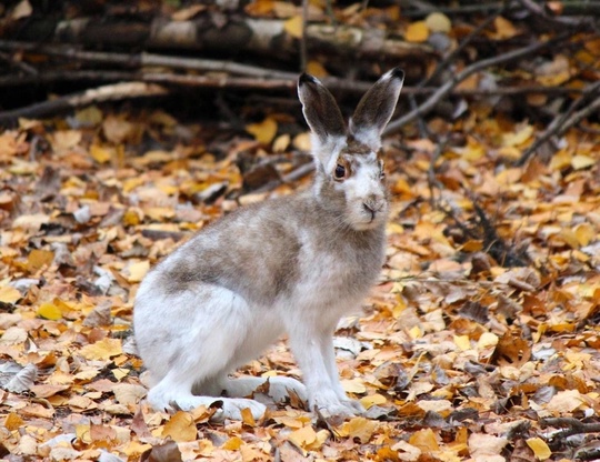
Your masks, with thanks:
M 317 199 L 357 231 L 382 224 L 388 198 L 381 133 L 393 114 L 404 73 L 396 68 L 362 97 L 347 127 L 329 90 L 302 74 L 298 96 L 312 132 Z

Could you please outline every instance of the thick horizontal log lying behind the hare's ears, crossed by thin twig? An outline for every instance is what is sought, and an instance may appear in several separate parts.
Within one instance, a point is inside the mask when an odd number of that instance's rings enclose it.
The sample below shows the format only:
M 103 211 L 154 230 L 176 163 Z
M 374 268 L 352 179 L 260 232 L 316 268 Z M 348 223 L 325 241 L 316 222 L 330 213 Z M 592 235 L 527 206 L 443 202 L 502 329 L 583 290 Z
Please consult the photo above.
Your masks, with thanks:
M 39 42 L 40 38 L 46 38 L 44 42 L 79 43 L 92 48 L 177 49 L 220 56 L 237 56 L 248 51 L 290 60 L 298 56 L 300 41 L 286 31 L 284 22 L 230 16 L 223 26 L 218 27 L 208 14 L 188 21 L 154 18 L 148 22 L 114 18 L 106 18 L 101 22 L 94 18 L 56 22 L 41 18 L 23 24 L 19 36 L 21 40 Z M 427 44 L 409 43 L 389 31 L 376 28 L 309 23 L 306 32 L 308 50 L 314 53 L 334 53 L 353 60 L 366 58 L 394 61 L 423 59 L 433 54 Z

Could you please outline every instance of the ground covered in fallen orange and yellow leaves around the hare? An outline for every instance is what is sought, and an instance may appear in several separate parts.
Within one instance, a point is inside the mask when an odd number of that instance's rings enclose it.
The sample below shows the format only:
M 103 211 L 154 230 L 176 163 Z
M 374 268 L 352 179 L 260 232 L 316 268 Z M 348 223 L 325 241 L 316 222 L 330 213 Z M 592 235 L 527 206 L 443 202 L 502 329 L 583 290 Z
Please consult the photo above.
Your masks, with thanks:
M 286 152 L 306 149 L 304 133 L 277 137 L 269 119 L 250 127 L 254 139 L 214 141 L 161 111 L 98 108 L 78 112 L 76 129 L 23 120 L 6 131 L 2 456 L 489 462 L 594 454 L 599 429 L 578 425 L 593 425 L 600 411 L 597 140 L 567 133 L 548 164 L 514 168 L 510 160 L 536 129 L 476 118 L 456 128 L 469 131 L 463 143 L 438 154 L 428 140 L 387 141 L 387 263 L 366 312 L 344 319 L 336 337 L 342 383 L 368 409 L 347 422 L 318 421 L 293 396 L 261 422 L 212 423 L 211 409 L 152 412 L 130 342 L 136 290 L 152 264 L 240 203 L 306 188 L 301 180 L 247 192 L 251 181 L 237 163 L 249 155 L 273 178 L 284 175 L 297 165 Z M 148 139 L 160 148 L 149 149 Z M 241 372 L 299 370 L 282 341 Z

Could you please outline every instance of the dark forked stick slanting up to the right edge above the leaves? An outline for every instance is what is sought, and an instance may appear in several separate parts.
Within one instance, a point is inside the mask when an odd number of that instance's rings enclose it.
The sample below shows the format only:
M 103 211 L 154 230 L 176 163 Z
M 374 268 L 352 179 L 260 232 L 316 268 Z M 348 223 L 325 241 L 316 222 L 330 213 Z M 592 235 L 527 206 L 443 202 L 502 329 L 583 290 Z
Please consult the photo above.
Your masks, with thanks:
M 559 113 L 552 122 L 548 125 L 546 131 L 521 154 L 520 159 L 517 161 L 517 165 L 523 165 L 533 155 L 538 149 L 550 141 L 554 135 L 560 137 L 571 127 L 579 123 L 583 118 L 588 117 L 600 107 L 600 96 L 597 96 L 596 99 L 586 106 L 586 108 L 576 111 L 577 108 L 587 99 L 589 96 L 594 96 L 600 91 L 600 81 L 594 82 L 583 89 L 581 96 L 576 99 L 567 111 Z

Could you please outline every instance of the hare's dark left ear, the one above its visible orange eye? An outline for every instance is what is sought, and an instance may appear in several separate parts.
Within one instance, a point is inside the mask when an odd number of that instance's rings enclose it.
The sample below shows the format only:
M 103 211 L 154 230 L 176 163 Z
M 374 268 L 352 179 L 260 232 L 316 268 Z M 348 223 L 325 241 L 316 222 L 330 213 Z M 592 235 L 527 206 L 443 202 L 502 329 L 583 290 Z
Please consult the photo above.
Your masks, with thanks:
M 316 151 L 328 143 L 346 138 L 346 123 L 340 108 L 329 90 L 314 77 L 303 73 L 298 80 L 298 98 L 304 119 L 312 131 Z

